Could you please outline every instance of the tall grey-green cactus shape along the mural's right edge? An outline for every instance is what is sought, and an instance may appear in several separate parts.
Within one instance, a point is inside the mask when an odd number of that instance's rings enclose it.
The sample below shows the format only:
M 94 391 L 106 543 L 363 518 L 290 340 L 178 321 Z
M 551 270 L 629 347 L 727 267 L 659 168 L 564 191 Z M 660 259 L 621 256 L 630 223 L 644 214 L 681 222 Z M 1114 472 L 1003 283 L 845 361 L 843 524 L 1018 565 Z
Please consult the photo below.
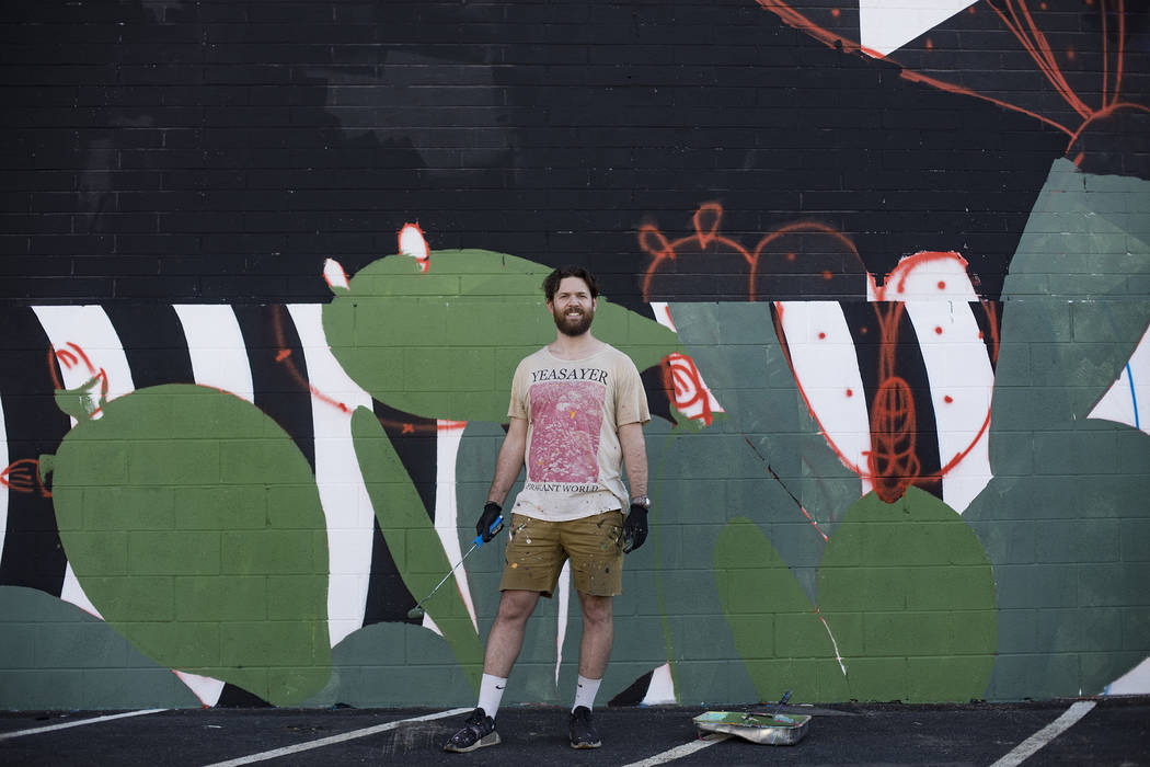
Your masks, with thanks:
M 1150 320 L 1148 209 L 1150 182 L 1056 161 L 1003 285 L 995 476 L 963 515 L 998 584 L 990 698 L 1103 692 L 1150 646 L 1150 438 L 1089 417 Z

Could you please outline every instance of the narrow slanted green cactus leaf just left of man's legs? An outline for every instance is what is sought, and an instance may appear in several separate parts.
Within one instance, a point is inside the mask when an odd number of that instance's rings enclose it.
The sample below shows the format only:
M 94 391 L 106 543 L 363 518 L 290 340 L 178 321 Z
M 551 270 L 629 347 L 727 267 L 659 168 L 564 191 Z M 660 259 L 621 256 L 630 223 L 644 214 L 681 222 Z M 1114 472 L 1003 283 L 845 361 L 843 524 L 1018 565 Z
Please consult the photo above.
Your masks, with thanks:
M 422 599 L 451 568 L 439 536 L 391 439 L 379 420 L 366 407 L 358 407 L 352 413 L 352 444 L 396 568 L 407 590 L 416 595 L 416 599 Z M 477 690 L 483 670 L 483 645 L 459 589 L 445 583 L 424 603 L 424 608 L 443 631 L 468 681 Z

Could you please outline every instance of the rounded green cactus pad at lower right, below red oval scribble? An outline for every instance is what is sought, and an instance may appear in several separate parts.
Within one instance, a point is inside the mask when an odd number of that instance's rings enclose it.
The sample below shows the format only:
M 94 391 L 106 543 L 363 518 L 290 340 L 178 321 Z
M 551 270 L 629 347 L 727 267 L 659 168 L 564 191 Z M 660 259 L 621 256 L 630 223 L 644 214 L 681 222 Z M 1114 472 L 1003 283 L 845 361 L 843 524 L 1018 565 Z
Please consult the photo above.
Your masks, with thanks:
M 819 568 L 819 607 L 849 698 L 967 701 L 986 695 L 998 638 L 994 573 L 963 519 L 907 488 L 848 511 Z

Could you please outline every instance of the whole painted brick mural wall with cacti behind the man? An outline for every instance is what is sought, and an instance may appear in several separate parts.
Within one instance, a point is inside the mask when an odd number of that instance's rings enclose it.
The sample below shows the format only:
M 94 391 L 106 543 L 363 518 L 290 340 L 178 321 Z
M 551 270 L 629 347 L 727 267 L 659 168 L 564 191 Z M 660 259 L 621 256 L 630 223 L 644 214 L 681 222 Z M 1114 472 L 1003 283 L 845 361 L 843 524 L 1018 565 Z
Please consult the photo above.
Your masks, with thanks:
M 572 261 L 612 704 L 1150 692 L 1150 13 L 905 5 L 6 5 L 0 705 L 470 705 Z

